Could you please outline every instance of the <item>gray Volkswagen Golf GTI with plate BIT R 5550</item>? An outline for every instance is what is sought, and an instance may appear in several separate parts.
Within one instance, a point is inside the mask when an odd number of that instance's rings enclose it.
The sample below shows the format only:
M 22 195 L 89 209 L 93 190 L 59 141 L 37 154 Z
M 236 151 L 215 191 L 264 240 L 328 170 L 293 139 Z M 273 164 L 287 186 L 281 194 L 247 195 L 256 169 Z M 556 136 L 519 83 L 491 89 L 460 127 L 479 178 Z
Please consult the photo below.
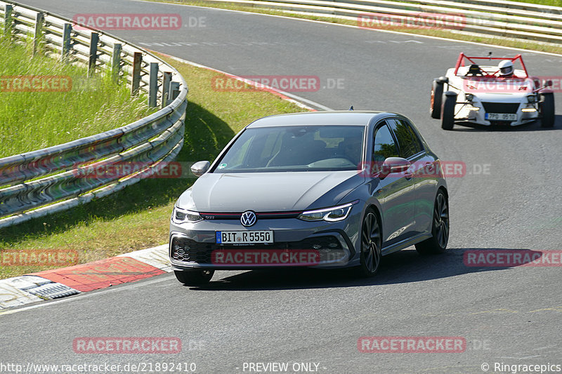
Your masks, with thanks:
M 384 255 L 415 245 L 445 251 L 447 185 L 441 164 L 405 116 L 307 112 L 246 126 L 171 215 L 178 281 L 215 269 L 357 267 L 373 276 Z

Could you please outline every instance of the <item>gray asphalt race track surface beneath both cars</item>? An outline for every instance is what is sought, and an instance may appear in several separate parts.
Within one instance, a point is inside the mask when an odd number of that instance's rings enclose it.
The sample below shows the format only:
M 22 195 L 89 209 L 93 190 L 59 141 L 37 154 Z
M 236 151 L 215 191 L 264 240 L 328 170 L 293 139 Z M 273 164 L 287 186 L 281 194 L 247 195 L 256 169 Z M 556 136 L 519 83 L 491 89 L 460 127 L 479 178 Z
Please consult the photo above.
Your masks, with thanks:
M 519 51 L 141 1 L 23 2 L 70 18 L 179 13 L 188 26 L 176 31 L 109 32 L 232 74 L 318 76 L 325 88 L 296 94 L 332 109 L 405 114 L 441 159 L 466 163 L 466 175 L 447 180 L 451 236 L 444 255 L 421 258 L 409 248 L 384 258 L 379 275 L 367 280 L 311 270 L 217 272 L 210 286 L 189 288 L 166 274 L 15 309 L 0 316 L 2 363 L 185 362 L 196 363 L 196 373 L 256 373 L 261 366 L 250 371 L 248 363 L 282 362 L 291 370 L 317 363 L 309 370 L 318 373 L 431 374 L 485 373 L 483 363 L 487 373 L 508 372 L 495 363 L 562 365 L 562 268 L 463 263 L 469 250 L 562 250 L 562 93 L 555 94 L 556 124 L 548 130 L 534 123 L 443 131 L 428 110 L 431 80 L 460 51 Z M 190 19 L 204 22 L 190 27 Z M 521 53 L 532 75 L 562 74 L 562 56 Z M 339 87 L 329 88 L 334 81 Z M 74 338 L 91 336 L 176 337 L 183 349 L 74 353 Z M 363 336 L 464 337 L 466 349 L 362 353 Z

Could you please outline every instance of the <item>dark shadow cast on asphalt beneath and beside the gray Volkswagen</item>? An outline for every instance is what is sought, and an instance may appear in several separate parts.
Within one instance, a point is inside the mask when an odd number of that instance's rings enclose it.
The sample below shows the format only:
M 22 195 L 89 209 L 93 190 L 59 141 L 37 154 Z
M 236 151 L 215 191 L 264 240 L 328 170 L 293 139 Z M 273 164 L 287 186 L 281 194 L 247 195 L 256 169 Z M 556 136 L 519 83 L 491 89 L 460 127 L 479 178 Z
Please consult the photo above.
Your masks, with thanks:
M 442 255 L 421 256 L 414 249 L 405 249 L 384 256 L 379 272 L 373 278 L 358 277 L 356 269 L 259 269 L 226 276 L 192 290 L 285 290 L 383 286 L 448 278 L 474 272 L 491 272 L 510 267 L 472 267 L 463 262 L 466 251 L 514 251 L 512 248 L 451 248 Z M 540 251 L 528 253 L 541 253 Z M 215 279 L 221 274 L 215 274 Z M 224 274 L 224 273 L 223 273 Z

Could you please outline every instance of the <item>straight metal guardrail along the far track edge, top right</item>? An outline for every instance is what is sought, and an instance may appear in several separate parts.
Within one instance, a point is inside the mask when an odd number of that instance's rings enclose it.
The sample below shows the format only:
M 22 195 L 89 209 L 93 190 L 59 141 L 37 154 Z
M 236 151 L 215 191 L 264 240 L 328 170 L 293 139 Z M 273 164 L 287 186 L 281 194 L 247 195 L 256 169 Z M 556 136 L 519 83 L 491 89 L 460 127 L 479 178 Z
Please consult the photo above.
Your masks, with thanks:
M 460 16 L 461 27 L 450 31 L 537 41 L 562 46 L 562 7 L 500 0 L 202 0 L 208 3 L 231 3 L 273 8 L 296 13 L 337 16 L 356 20 L 369 13 L 395 18 L 432 20 L 435 15 Z M 367 25 L 367 28 L 369 26 Z M 383 27 L 372 27 L 383 28 Z M 394 27 L 396 28 L 396 27 Z M 407 28 L 407 27 L 405 27 Z M 444 28 L 447 29 L 447 28 Z

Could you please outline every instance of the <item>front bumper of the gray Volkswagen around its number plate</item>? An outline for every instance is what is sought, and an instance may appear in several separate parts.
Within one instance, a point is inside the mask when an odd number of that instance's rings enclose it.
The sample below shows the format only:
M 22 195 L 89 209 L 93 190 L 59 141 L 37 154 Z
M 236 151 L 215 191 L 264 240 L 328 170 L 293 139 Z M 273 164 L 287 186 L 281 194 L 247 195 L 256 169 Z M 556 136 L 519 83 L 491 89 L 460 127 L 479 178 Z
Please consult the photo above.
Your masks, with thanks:
M 341 222 L 306 222 L 296 218 L 260 220 L 243 227 L 238 220 L 171 222 L 169 258 L 174 270 L 336 268 L 359 265 L 359 214 Z M 294 227 L 294 228 L 292 228 Z M 217 244 L 217 231 L 272 230 L 274 243 Z

